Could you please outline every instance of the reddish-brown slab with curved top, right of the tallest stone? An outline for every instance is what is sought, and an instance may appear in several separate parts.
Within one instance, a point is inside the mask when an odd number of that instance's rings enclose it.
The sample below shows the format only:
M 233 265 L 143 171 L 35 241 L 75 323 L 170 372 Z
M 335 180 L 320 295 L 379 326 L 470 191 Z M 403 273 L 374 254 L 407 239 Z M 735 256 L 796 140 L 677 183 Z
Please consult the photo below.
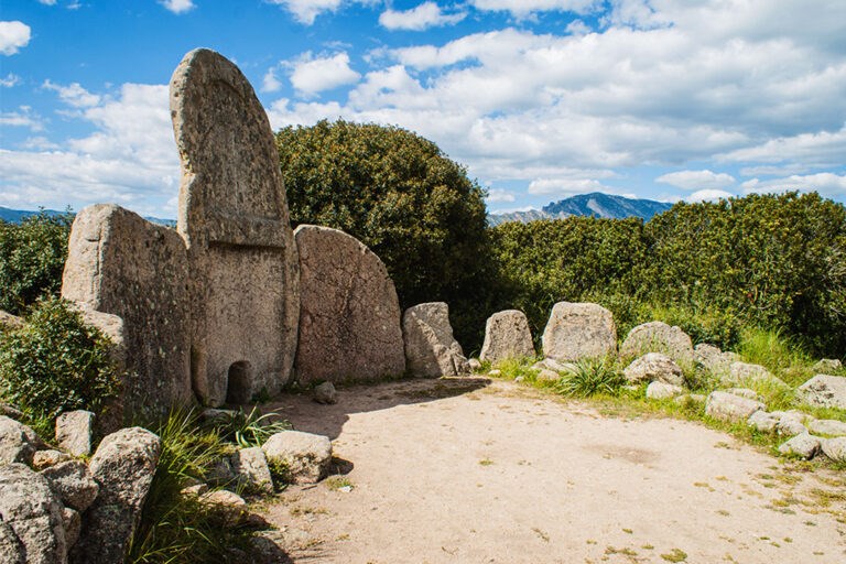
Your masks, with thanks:
M 356 238 L 313 225 L 294 231 L 300 254 L 301 382 L 373 380 L 405 370 L 400 302 L 379 257 Z

